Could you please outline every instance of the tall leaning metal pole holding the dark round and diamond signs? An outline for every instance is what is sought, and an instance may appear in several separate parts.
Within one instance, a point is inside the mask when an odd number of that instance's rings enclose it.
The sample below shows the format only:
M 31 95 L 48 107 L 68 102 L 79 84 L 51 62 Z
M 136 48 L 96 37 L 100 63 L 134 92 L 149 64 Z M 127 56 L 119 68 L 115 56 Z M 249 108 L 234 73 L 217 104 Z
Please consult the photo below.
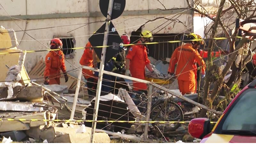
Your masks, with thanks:
M 103 46 L 108 45 L 110 20 L 111 20 L 111 15 L 112 15 L 113 3 L 114 3 L 114 0 L 109 1 L 109 9 L 108 9 L 108 16 L 107 16 Z M 97 121 L 97 117 L 98 117 L 98 110 L 99 110 L 99 103 L 100 103 L 100 96 L 101 96 L 101 87 L 102 87 L 102 79 L 103 79 L 103 70 L 104 70 L 104 66 L 105 66 L 104 63 L 105 63 L 106 51 L 107 51 L 107 47 L 104 47 L 102 49 L 102 55 L 101 55 L 101 64 L 100 64 L 100 71 L 99 71 L 99 77 L 98 77 L 98 86 L 97 86 L 96 99 L 95 99 L 95 105 L 94 105 L 94 113 L 93 113 L 93 121 L 94 122 L 92 124 L 92 132 L 91 132 L 90 143 L 94 142 L 94 134 L 95 134 L 96 125 L 97 125 L 96 121 Z

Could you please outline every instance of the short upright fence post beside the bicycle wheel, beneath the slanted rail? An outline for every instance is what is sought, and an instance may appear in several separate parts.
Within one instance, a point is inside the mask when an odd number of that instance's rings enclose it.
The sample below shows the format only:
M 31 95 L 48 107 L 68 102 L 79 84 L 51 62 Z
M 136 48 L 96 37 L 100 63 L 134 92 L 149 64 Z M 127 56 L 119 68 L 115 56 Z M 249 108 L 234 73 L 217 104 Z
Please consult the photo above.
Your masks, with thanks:
M 151 103 L 152 103 L 152 90 L 153 90 L 153 86 L 149 85 L 149 89 L 148 89 L 148 103 L 147 103 L 147 110 L 146 110 L 146 121 L 149 121 L 149 118 L 150 118 Z M 149 123 L 145 123 L 144 136 L 143 136 L 144 140 L 147 139 L 148 124 Z

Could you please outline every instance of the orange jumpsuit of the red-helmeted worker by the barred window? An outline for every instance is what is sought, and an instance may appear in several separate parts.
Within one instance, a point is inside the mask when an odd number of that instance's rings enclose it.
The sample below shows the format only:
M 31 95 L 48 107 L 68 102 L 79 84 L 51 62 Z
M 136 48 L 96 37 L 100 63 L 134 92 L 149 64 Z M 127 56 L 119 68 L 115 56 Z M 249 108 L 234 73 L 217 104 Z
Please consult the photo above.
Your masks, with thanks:
M 44 77 L 49 77 L 49 85 L 60 85 L 60 69 L 66 72 L 64 54 L 61 50 L 50 51 L 45 57 Z

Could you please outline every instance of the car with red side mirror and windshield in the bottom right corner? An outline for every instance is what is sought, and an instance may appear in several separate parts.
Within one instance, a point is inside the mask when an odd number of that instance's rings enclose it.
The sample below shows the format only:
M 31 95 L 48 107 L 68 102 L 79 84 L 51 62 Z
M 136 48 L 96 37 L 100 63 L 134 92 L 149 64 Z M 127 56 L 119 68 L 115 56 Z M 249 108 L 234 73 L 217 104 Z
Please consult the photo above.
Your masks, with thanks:
M 200 143 L 256 143 L 256 79 L 229 104 L 211 130 L 210 120 L 190 121 L 188 132 Z

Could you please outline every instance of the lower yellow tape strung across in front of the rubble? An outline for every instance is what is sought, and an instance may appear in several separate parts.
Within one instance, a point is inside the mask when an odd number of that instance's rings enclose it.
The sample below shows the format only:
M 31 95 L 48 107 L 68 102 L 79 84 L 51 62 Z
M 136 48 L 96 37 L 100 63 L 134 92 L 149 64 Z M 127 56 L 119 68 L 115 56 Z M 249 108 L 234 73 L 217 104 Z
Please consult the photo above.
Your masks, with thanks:
M 104 120 L 98 120 L 98 121 L 93 121 L 93 120 L 39 120 L 39 119 L 1 119 L 0 121 L 45 121 L 45 122 L 97 122 L 97 123 L 189 123 L 189 121 L 104 121 Z M 211 123 L 216 123 L 216 122 L 211 122 Z

